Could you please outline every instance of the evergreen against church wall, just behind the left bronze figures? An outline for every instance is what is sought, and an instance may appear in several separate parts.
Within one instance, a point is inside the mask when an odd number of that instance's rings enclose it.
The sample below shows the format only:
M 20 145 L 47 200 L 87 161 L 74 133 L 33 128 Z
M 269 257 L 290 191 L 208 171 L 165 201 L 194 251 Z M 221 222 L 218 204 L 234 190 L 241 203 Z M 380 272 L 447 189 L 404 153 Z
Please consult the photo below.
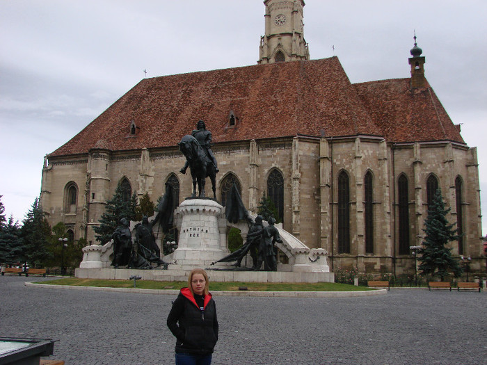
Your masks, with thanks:
M 111 240 L 111 235 L 120 224 L 122 218 L 127 220 L 135 220 L 137 206 L 137 195 L 134 193 L 130 200 L 125 202 L 123 200 L 122 186 L 118 184 L 115 189 L 115 194 L 111 200 L 106 202 L 105 213 L 99 220 L 99 227 L 95 227 L 95 238 L 99 243 L 104 245 Z

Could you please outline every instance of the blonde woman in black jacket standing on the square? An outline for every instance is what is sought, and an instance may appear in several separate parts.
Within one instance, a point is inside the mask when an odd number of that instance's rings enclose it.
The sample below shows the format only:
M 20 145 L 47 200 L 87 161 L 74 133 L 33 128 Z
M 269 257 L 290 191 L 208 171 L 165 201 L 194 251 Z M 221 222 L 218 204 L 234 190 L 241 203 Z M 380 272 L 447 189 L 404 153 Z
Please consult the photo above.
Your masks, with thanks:
M 168 316 L 168 327 L 176 337 L 176 365 L 209 365 L 218 341 L 215 302 L 208 291 L 205 270 L 195 268 L 188 287 L 181 289 Z

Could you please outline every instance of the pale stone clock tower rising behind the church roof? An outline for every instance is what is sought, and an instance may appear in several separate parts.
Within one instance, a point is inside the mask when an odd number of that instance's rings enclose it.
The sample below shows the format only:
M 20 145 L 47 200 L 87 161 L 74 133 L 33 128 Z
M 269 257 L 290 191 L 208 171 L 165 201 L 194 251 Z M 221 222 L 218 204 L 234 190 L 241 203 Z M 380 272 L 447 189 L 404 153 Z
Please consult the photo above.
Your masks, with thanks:
M 260 38 L 257 63 L 309 60 L 303 33 L 303 0 L 265 0 L 265 35 Z

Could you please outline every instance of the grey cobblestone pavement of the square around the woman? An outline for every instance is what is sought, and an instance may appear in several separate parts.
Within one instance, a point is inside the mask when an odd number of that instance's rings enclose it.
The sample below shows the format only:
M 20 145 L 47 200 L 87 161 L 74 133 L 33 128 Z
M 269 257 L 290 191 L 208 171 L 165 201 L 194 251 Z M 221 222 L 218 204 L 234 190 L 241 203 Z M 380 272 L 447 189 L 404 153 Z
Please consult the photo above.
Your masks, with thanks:
M 26 287 L 0 277 L 1 336 L 59 340 L 67 365 L 174 364 L 174 295 Z M 213 364 L 487 364 L 483 291 L 391 290 L 363 298 L 214 296 Z

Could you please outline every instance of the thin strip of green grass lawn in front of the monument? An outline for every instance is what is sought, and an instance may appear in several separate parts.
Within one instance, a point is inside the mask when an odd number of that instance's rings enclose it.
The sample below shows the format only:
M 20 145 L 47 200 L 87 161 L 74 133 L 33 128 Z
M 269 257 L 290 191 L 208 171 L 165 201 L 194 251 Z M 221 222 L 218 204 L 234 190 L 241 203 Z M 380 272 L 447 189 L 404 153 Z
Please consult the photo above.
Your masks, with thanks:
M 109 288 L 133 288 L 133 280 L 101 280 L 101 279 L 56 279 L 37 284 L 98 286 Z M 138 289 L 181 289 L 188 286 L 188 282 L 154 282 L 152 280 L 137 280 Z M 238 291 L 239 286 L 246 286 L 248 291 L 366 291 L 374 290 L 365 286 L 353 286 L 337 283 L 254 283 L 254 282 L 210 282 L 210 291 Z

